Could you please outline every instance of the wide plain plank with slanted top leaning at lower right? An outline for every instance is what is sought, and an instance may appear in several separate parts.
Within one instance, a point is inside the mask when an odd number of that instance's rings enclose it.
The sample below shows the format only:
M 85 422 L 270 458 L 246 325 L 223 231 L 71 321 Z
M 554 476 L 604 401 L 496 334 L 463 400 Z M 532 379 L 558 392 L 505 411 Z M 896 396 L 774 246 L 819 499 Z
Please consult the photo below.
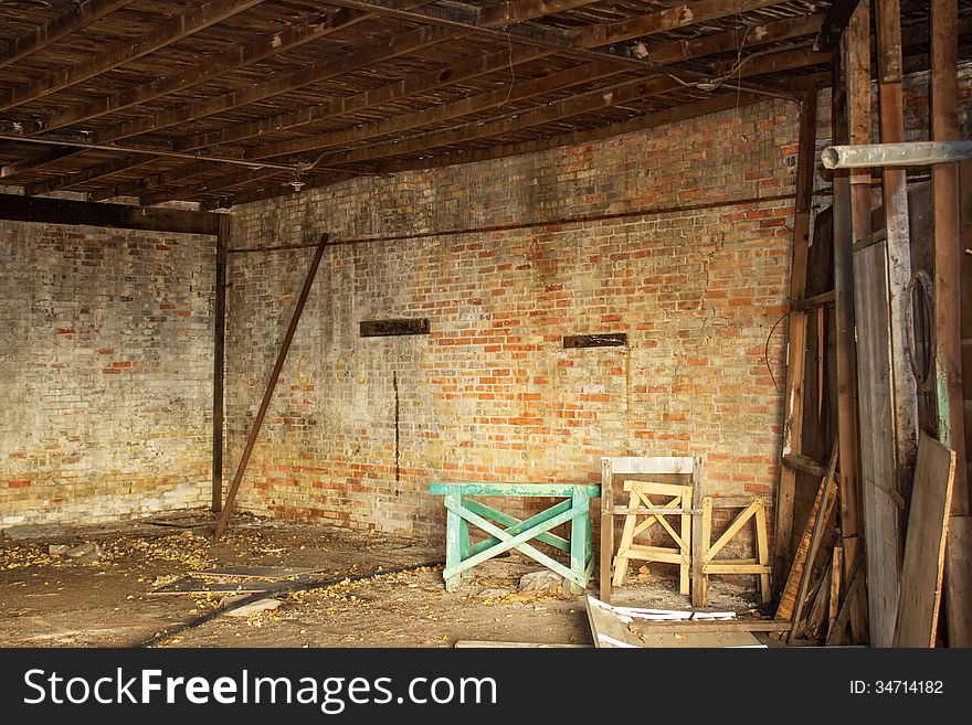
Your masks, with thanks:
M 921 434 L 901 565 L 895 647 L 934 647 L 954 481 L 955 452 Z

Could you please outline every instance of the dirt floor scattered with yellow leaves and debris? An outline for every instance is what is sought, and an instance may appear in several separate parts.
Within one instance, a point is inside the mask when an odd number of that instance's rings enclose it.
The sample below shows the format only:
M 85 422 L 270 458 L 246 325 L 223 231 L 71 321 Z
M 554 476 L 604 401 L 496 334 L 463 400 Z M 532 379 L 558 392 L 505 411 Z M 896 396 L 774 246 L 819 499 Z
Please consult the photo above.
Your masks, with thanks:
M 441 543 L 345 529 L 235 516 L 219 544 L 204 512 L 158 525 L 131 522 L 72 531 L 25 532 L 0 542 L 2 647 L 452 647 L 459 640 L 591 646 L 581 598 L 517 591 L 519 577 L 542 567 L 514 554 L 476 567 L 447 593 L 441 566 L 349 576 L 443 558 Z M 194 525 L 198 524 L 198 525 Z M 182 527 L 190 526 L 191 527 Z M 51 553 L 96 543 L 87 557 Z M 94 548 L 93 545 L 87 547 Z M 84 550 L 82 550 L 84 551 Z M 324 588 L 273 595 L 271 611 L 225 614 L 223 594 L 152 595 L 189 572 L 216 566 L 319 567 Z M 633 572 L 615 603 L 689 609 L 667 573 Z M 592 582 L 591 594 L 596 595 Z M 751 584 L 714 580 L 710 610 L 759 616 Z

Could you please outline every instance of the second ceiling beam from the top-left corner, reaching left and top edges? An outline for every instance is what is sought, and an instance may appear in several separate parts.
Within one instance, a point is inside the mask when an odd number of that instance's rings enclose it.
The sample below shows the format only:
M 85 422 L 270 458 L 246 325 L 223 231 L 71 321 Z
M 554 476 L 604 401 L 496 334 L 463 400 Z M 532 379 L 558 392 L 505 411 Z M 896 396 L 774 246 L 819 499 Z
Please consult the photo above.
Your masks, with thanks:
M 70 65 L 40 81 L 13 88 L 0 96 L 0 110 L 42 98 L 102 73 L 107 73 L 112 68 L 117 68 L 142 55 L 171 45 L 176 41 L 198 33 L 226 18 L 232 18 L 261 2 L 263 0 L 211 0 L 202 7 L 187 10 L 172 20 L 163 22 L 155 30 L 109 47 L 88 61 Z

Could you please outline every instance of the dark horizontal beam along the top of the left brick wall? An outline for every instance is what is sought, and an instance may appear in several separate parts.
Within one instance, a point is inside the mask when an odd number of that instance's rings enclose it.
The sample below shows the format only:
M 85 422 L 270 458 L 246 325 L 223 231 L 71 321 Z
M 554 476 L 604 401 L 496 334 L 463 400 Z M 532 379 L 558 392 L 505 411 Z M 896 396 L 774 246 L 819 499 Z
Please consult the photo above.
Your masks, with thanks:
M 105 226 L 119 230 L 218 234 L 216 214 L 183 209 L 142 209 L 125 204 L 93 204 L 67 199 L 0 194 L 0 220 Z

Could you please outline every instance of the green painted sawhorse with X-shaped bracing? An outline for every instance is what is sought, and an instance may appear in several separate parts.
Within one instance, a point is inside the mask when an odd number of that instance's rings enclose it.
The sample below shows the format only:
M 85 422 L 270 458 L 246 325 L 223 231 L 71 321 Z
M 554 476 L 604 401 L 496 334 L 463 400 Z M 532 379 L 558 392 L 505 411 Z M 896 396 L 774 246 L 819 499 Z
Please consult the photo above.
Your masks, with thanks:
M 445 497 L 445 588 L 455 591 L 462 578 L 472 578 L 473 567 L 511 548 L 521 551 L 570 582 L 574 591 L 583 590 L 594 568 L 591 542 L 591 499 L 601 495 L 600 486 L 582 483 L 433 483 L 429 491 Z M 469 497 L 550 497 L 567 499 L 520 521 Z M 493 523 L 493 522 L 496 523 Z M 570 522 L 570 541 L 550 533 Z M 469 545 L 469 524 L 489 539 Z M 506 526 L 500 529 L 497 524 Z M 570 556 L 564 566 L 527 542 L 549 544 Z

